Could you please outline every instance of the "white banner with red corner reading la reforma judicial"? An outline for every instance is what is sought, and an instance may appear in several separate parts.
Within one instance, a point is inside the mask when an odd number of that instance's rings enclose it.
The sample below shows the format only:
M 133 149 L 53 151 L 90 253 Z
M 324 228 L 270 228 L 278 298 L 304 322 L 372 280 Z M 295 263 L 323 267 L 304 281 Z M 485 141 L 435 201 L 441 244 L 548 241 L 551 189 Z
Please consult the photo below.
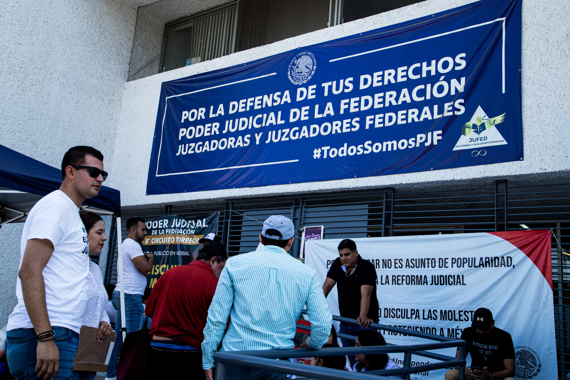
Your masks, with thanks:
M 305 263 L 324 282 L 341 239 L 307 240 Z M 380 324 L 459 338 L 473 312 L 488 308 L 512 336 L 515 377 L 557 378 L 550 231 L 394 236 L 354 239 L 378 275 Z M 328 298 L 339 315 L 336 287 Z M 338 325 L 337 325 L 338 327 Z M 383 331 L 397 345 L 426 340 Z M 455 348 L 436 350 L 455 356 Z M 402 366 L 404 354 L 390 354 Z M 470 364 L 467 357 L 467 365 Z M 412 365 L 433 362 L 413 356 Z M 443 379 L 445 369 L 412 375 Z

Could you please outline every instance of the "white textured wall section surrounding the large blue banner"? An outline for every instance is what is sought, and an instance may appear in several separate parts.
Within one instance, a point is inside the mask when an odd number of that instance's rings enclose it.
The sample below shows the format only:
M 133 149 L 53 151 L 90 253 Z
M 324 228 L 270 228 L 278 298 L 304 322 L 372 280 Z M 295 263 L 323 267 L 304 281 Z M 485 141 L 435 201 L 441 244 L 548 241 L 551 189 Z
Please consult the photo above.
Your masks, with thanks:
M 570 9 L 560 2 L 523 1 L 522 91 L 524 161 L 470 166 L 430 172 L 384 175 L 336 181 L 296 183 L 199 191 L 183 194 L 145 195 L 160 87 L 178 79 L 218 68 L 245 63 L 300 46 L 340 38 L 390 24 L 423 17 L 465 5 L 471 0 L 428 0 L 365 19 L 315 31 L 270 45 L 159 73 L 125 84 L 109 184 L 121 190 L 123 206 L 200 201 L 212 198 L 251 197 L 268 194 L 349 190 L 402 183 L 497 177 L 570 169 L 570 136 L 560 130 L 570 121 L 565 83 L 570 83 L 567 22 Z M 136 163 L 136 165 L 132 165 Z

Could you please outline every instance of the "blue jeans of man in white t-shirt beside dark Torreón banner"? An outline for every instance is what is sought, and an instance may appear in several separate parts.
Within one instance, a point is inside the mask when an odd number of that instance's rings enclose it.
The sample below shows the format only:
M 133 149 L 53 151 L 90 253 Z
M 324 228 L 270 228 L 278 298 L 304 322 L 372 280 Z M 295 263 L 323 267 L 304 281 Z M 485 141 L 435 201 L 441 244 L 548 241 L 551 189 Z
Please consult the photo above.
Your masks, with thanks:
M 121 293 L 118 291 L 113 292 L 113 299 L 111 300 L 113 307 L 117 310 L 117 320 L 115 322 L 115 346 L 109 358 L 109 365 L 107 366 L 107 377 L 116 377 L 117 363 L 119 363 L 119 353 L 121 352 L 121 345 L 123 345 L 123 332 L 121 332 Z M 140 294 L 127 294 L 125 293 L 125 326 L 127 332 L 132 333 L 139 331 L 143 327 L 143 296 Z

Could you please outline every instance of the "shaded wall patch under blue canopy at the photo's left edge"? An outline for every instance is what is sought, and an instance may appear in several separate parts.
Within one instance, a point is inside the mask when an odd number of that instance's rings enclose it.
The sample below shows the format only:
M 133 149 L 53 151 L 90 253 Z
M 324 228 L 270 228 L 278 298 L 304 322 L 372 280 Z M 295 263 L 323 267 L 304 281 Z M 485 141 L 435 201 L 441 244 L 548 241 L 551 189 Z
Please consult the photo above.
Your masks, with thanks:
M 0 328 L 17 304 L 16 279 L 20 264 L 20 239 L 24 223 L 7 223 L 0 228 Z

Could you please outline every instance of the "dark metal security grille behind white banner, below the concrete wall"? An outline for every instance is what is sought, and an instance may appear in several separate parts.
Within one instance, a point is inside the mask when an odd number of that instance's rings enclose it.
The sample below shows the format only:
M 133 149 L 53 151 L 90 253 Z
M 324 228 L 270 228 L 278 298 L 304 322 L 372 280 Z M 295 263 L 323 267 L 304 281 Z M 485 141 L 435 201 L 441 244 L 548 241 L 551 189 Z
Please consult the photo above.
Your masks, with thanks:
M 290 217 L 302 235 L 305 226 L 324 226 L 324 238 L 364 238 L 467 232 L 552 229 L 552 280 L 559 379 L 570 373 L 570 183 L 490 186 L 431 191 L 377 189 L 289 197 L 239 199 L 209 207 L 154 210 L 123 215 L 153 218 L 219 211 L 218 235 L 230 255 L 255 250 L 263 220 Z M 123 238 L 126 228 L 123 228 Z M 116 227 L 113 225 L 106 283 L 116 282 Z M 291 254 L 299 255 L 300 239 Z M 532 330 L 532 326 L 528 326 Z

